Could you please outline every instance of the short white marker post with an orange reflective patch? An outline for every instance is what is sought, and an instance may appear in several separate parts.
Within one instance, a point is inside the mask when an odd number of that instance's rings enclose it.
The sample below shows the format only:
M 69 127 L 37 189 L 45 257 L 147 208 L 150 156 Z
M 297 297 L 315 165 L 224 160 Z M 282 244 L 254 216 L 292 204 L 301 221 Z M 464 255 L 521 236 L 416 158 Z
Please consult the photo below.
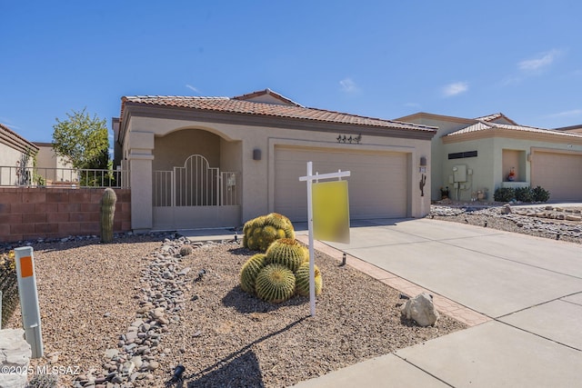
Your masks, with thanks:
M 15 262 L 25 340 L 30 343 L 32 358 L 40 358 L 43 356 L 43 335 L 40 327 L 33 248 L 30 246 L 15 248 Z

